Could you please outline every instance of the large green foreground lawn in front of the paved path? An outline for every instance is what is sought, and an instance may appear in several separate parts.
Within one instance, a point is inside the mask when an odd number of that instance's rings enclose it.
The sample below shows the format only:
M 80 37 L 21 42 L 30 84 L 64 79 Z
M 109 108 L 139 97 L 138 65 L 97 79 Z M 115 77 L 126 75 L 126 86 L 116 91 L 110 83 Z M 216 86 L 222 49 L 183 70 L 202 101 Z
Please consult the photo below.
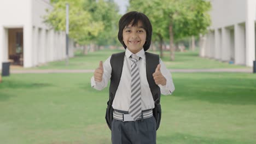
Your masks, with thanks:
M 97 65 L 93 61 L 91 64 Z M 0 143 L 110 143 L 110 130 L 104 119 L 108 88 L 92 89 L 91 76 L 92 73 L 3 77 Z M 172 76 L 176 91 L 161 97 L 158 144 L 256 143 L 255 74 Z

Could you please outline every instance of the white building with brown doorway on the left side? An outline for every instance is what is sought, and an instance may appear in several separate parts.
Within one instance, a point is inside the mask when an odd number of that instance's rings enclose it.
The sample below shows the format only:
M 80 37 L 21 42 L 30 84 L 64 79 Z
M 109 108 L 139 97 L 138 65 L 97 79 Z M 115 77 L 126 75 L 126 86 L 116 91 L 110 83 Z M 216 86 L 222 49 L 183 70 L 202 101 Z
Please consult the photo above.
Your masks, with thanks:
M 0 2 L 0 69 L 2 62 L 25 68 L 66 58 L 66 34 L 43 22 L 50 0 L 4 0 Z M 69 40 L 69 57 L 73 41 Z

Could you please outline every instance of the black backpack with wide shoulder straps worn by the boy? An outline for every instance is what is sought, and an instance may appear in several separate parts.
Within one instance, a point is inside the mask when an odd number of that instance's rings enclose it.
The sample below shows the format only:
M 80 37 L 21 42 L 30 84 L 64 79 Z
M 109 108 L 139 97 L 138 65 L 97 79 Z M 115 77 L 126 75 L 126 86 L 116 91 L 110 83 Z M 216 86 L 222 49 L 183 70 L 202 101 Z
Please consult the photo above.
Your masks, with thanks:
M 158 130 L 160 121 L 161 121 L 161 105 L 160 105 L 160 88 L 155 84 L 153 73 L 155 72 L 156 67 L 159 64 L 159 55 L 155 55 L 153 53 L 145 52 L 146 55 L 146 70 L 147 70 L 147 80 L 149 83 L 150 91 L 153 95 L 155 108 L 153 109 L 153 116 L 156 121 L 156 130 Z M 114 53 L 110 58 L 110 64 L 112 67 L 112 73 L 110 78 L 110 86 L 109 86 L 109 100 L 107 102 L 106 109 L 106 122 L 108 124 L 109 129 L 111 130 L 112 121 L 113 121 L 113 107 L 112 103 L 115 98 L 115 92 L 117 92 L 117 88 L 121 79 L 121 74 L 124 65 L 124 57 L 125 52 Z

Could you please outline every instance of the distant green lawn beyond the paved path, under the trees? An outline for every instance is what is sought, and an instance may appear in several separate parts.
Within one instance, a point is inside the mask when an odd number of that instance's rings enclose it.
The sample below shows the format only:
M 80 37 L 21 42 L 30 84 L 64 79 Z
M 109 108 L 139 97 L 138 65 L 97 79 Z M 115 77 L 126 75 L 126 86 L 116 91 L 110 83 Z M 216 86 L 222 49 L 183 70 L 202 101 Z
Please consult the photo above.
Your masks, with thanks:
M 75 52 L 75 57 L 69 59 L 69 65 L 65 65 L 65 60 L 57 62 L 49 62 L 40 67 L 32 69 L 95 69 L 98 67 L 99 61 L 105 61 L 112 53 L 122 52 L 124 50 L 100 50 L 89 52 L 88 55 L 82 55 L 81 51 Z M 158 51 L 154 52 L 158 53 Z M 244 68 L 250 69 L 242 65 L 229 64 L 214 59 L 199 57 L 198 52 L 176 52 L 175 61 L 170 61 L 170 52 L 165 51 L 162 61 L 164 61 L 168 69 L 219 69 L 219 68 Z M 31 69 L 31 68 L 30 68 Z

